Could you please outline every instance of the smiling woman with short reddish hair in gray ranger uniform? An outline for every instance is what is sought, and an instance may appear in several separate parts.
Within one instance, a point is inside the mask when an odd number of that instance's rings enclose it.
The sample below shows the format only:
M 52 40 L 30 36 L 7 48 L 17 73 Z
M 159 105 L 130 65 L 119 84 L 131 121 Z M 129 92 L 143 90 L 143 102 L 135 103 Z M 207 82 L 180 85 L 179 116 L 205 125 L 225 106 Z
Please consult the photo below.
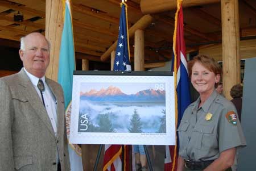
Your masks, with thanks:
M 214 59 L 197 55 L 188 62 L 188 72 L 200 97 L 184 111 L 177 129 L 177 171 L 230 169 L 236 148 L 246 142 L 236 108 L 215 90 L 222 69 Z

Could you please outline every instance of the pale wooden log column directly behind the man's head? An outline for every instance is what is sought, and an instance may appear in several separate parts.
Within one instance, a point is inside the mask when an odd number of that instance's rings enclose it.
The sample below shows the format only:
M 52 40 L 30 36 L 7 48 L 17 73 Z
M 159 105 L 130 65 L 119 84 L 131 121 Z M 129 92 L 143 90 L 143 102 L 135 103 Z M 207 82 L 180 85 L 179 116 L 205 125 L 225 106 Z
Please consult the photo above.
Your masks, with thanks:
M 60 43 L 63 30 L 62 0 L 46 0 L 46 38 L 51 43 L 50 62 L 46 76 L 57 81 Z

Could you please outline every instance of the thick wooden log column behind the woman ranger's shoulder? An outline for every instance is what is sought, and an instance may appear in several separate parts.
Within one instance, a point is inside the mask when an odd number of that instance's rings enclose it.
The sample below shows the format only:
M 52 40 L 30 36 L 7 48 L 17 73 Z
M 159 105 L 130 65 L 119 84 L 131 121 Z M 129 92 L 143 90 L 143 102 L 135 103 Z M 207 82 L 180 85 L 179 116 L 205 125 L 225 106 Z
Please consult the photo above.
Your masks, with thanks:
M 222 68 L 224 95 L 230 97 L 230 89 L 240 83 L 240 32 L 238 0 L 221 1 L 222 19 Z

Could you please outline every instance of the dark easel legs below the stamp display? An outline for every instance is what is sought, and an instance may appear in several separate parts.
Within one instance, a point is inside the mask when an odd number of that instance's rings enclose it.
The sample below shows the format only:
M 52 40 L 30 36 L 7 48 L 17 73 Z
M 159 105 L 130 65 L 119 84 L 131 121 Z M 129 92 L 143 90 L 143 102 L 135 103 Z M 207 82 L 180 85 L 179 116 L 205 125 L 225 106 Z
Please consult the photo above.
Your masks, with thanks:
M 146 157 L 147 157 L 148 171 L 153 171 L 152 164 L 151 164 L 151 160 L 150 160 L 150 156 L 149 156 L 148 151 L 147 151 L 147 146 L 146 146 L 146 145 L 143 145 L 143 147 L 144 147 L 144 151 L 145 151 L 145 154 L 146 154 Z M 100 147 L 98 148 L 98 153 L 97 153 L 97 157 L 96 157 L 96 161 L 95 161 L 95 164 L 94 164 L 93 171 L 97 171 L 97 168 L 98 168 L 98 161 L 100 160 L 102 148 L 103 148 L 103 145 L 101 144 Z M 122 159 L 124 158 L 123 149 L 124 149 L 124 145 L 122 145 Z M 131 160 L 130 160 L 130 161 L 131 161 Z M 122 160 L 122 171 L 125 170 L 125 168 L 123 168 L 123 166 L 124 166 L 123 162 L 124 162 L 124 161 Z M 127 171 L 129 171 L 129 170 L 127 170 Z

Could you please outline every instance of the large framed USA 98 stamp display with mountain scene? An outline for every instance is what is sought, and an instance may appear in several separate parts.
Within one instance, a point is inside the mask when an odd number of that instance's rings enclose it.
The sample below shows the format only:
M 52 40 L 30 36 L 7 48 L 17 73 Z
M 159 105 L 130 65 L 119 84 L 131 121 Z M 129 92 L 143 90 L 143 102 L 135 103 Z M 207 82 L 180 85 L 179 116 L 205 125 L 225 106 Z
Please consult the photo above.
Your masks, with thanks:
M 175 144 L 171 72 L 75 72 L 73 144 Z

